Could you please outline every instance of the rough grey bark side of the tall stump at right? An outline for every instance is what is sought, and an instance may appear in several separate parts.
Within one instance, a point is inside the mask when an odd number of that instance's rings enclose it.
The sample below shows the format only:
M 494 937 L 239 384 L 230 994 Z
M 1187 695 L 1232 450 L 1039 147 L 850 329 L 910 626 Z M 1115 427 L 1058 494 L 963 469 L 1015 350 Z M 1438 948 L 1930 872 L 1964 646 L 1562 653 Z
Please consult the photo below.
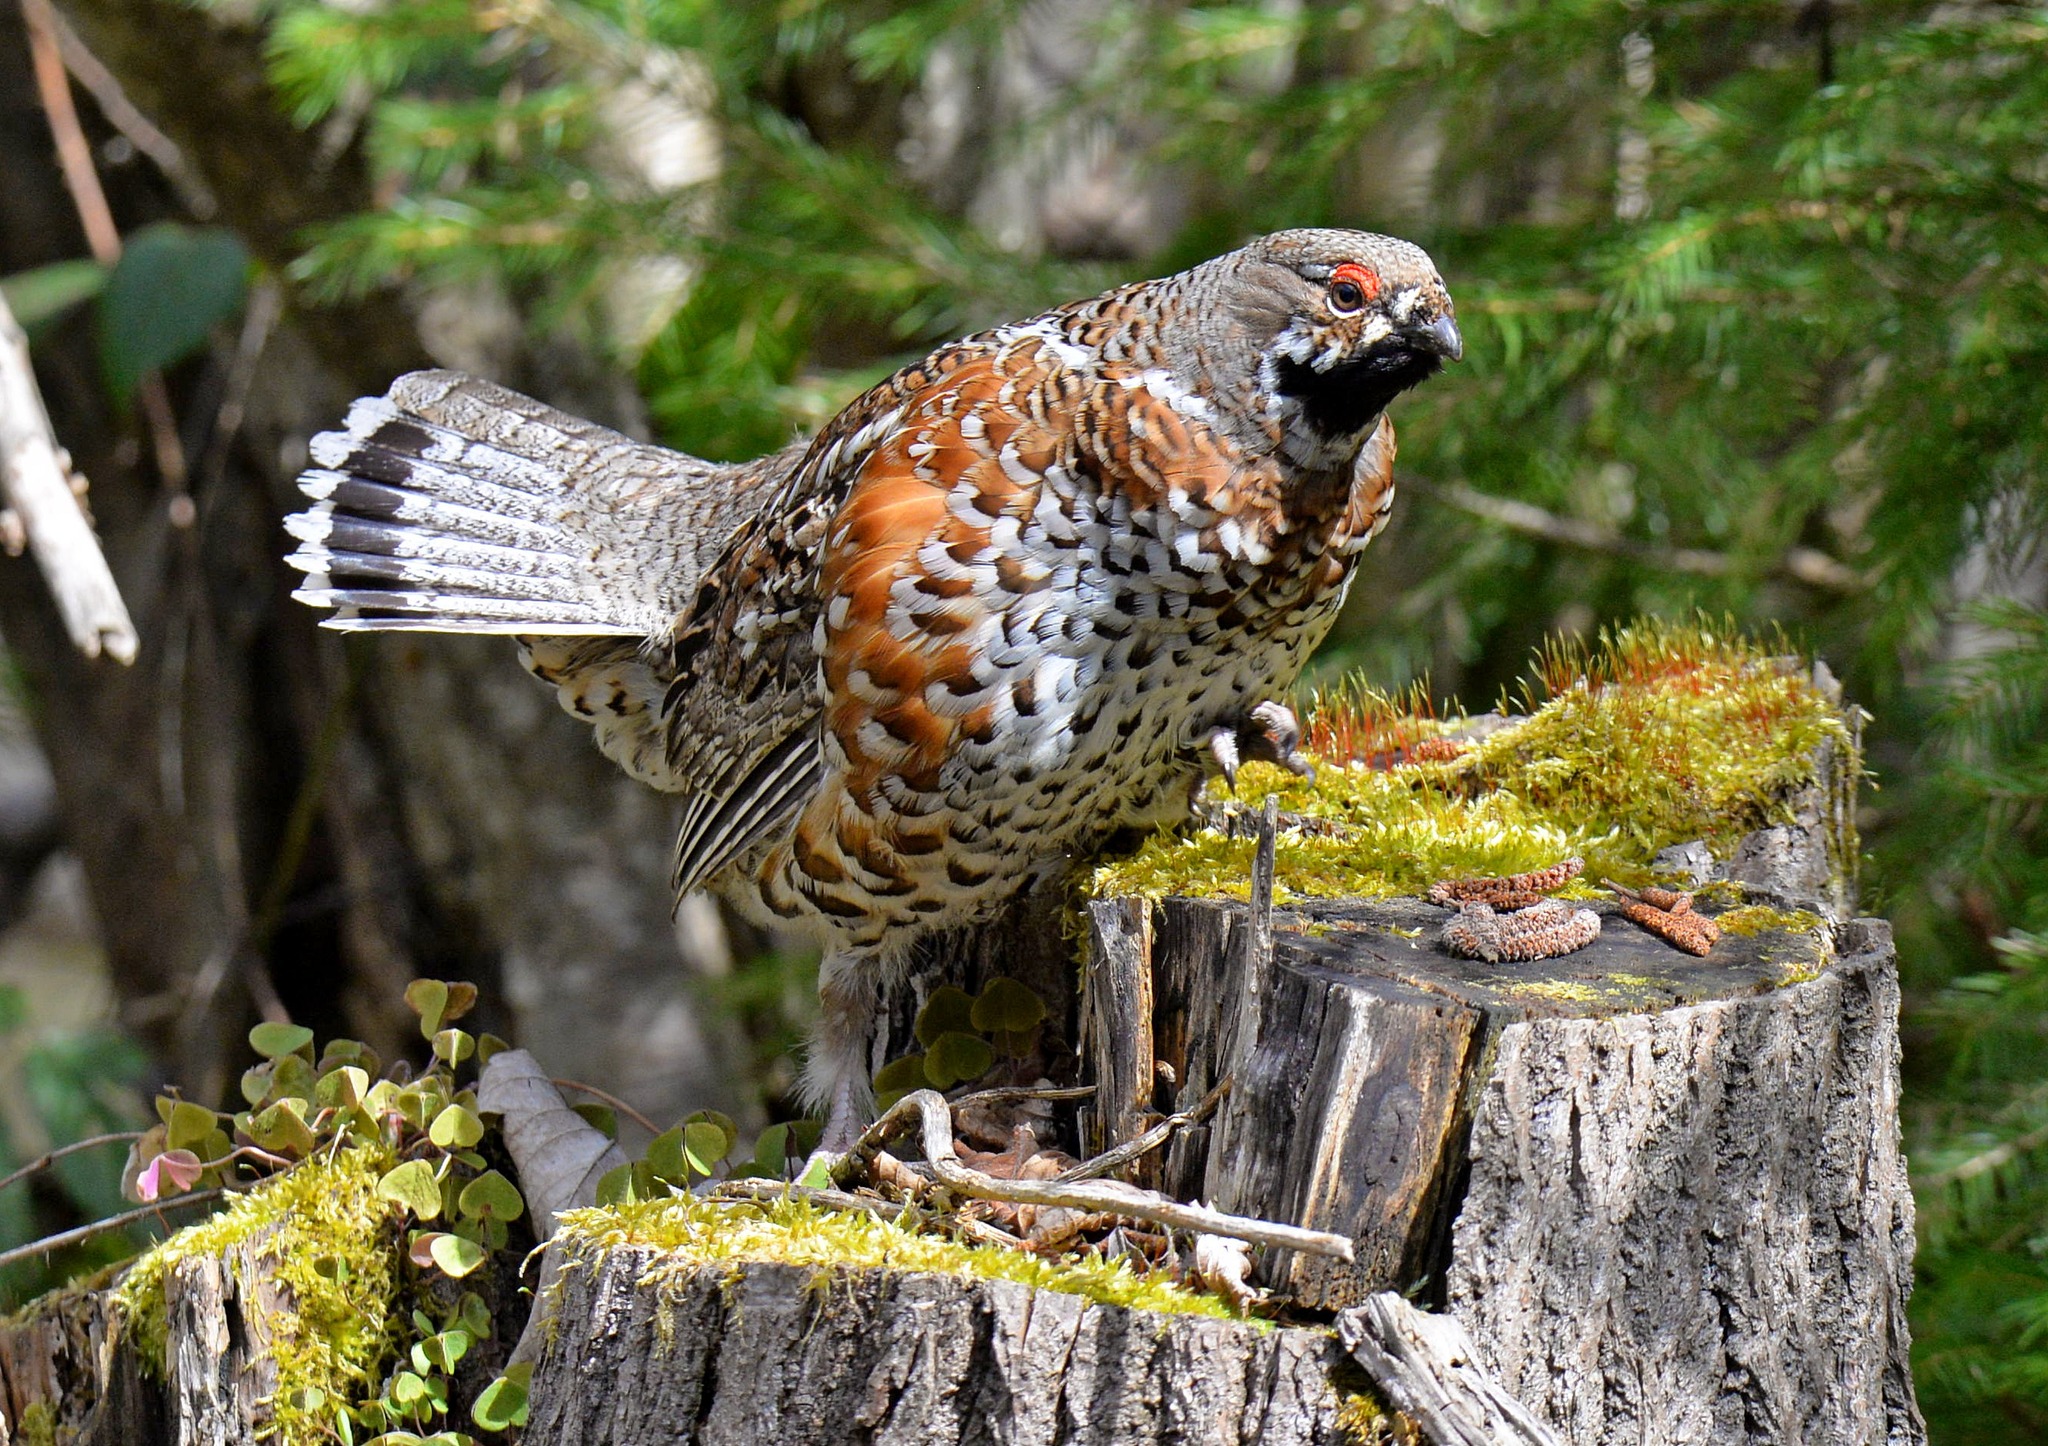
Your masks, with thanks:
M 1890 930 L 1810 983 L 1501 1032 L 1450 1309 L 1573 1442 L 1925 1440 Z

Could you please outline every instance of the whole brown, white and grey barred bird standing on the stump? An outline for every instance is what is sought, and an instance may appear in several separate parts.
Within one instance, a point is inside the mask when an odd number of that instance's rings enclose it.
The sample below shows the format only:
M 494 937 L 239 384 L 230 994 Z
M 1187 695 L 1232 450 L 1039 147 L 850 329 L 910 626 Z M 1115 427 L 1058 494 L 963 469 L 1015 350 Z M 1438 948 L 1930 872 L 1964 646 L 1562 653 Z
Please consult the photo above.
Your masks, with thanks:
M 1456 358 L 1430 258 L 1280 231 L 952 342 L 739 467 L 453 373 L 313 442 L 301 598 L 522 637 L 637 778 L 678 889 L 813 928 L 809 1083 L 844 1139 L 874 991 L 1124 825 L 1268 694 L 1393 504 L 1386 403 Z

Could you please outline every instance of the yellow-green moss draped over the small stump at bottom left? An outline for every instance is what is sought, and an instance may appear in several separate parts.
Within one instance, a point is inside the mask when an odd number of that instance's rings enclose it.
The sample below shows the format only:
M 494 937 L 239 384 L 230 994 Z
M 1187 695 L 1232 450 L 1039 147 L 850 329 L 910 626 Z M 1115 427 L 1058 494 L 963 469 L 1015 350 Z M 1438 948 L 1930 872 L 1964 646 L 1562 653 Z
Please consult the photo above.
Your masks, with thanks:
M 276 1260 L 289 1309 L 272 1325 L 276 1395 L 266 1438 L 287 1446 L 332 1440 L 326 1419 L 332 1405 L 311 1411 L 299 1405 L 299 1395 L 307 1389 L 328 1401 L 375 1395 L 397 1339 L 397 1229 L 391 1204 L 377 1198 L 377 1178 L 389 1163 L 377 1149 L 309 1159 L 137 1260 L 121 1278 L 115 1305 L 143 1362 L 160 1376 L 166 1370 L 164 1284 L 172 1268 L 274 1229 L 264 1251 Z

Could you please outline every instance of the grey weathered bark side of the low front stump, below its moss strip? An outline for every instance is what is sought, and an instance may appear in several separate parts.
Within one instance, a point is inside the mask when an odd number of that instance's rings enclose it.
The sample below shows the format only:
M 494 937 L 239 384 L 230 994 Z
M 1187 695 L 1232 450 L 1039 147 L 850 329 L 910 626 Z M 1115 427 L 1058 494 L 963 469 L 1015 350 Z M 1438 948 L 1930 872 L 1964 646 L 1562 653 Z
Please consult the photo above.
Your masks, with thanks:
M 1153 1315 L 1006 1280 L 563 1270 L 526 1440 L 551 1446 L 1307 1446 L 1339 1442 L 1323 1331 Z

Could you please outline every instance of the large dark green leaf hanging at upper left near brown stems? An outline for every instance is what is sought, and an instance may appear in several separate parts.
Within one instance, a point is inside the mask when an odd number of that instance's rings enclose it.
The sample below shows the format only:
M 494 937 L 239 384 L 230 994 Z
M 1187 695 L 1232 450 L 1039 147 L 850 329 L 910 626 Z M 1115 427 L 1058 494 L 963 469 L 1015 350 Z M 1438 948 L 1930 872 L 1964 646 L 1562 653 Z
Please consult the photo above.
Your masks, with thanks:
M 125 238 L 100 293 L 100 373 L 127 399 L 145 373 L 184 360 L 242 309 L 250 256 L 233 231 L 160 221 Z

